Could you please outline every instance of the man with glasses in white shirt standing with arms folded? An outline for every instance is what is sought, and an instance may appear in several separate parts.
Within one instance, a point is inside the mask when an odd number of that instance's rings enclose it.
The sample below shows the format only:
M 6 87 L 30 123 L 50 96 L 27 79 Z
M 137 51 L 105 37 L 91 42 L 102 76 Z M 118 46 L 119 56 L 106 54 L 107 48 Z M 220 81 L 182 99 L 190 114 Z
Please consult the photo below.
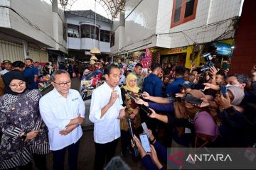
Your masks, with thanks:
M 63 69 L 51 76 L 54 89 L 39 101 L 40 113 L 48 127 L 53 169 L 64 169 L 65 150 L 68 149 L 69 169 L 77 169 L 81 124 L 85 118 L 85 103 L 78 91 L 70 89 L 70 75 Z

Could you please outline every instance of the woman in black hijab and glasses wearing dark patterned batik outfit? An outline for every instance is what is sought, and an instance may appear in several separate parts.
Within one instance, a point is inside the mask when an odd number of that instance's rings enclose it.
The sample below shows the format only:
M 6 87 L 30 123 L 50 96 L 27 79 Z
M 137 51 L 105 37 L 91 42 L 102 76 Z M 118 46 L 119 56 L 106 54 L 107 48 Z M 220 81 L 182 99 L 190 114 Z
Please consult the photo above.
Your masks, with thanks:
M 21 72 L 4 74 L 5 94 L 0 97 L 0 169 L 46 169 L 49 152 L 46 125 L 39 113 L 41 91 L 26 88 Z

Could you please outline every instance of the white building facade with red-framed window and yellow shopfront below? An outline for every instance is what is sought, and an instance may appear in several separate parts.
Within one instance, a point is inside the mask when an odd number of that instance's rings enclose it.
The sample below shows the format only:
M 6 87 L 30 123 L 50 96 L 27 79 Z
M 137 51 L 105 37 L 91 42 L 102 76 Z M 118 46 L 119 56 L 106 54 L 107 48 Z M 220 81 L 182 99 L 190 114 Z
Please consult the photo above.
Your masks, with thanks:
M 242 3 L 241 0 L 127 1 L 125 13 L 112 25 L 114 43 L 110 55 L 124 60 L 142 59 L 149 48 L 152 60 L 158 61 L 160 55 L 163 66 L 178 62 L 189 68 L 192 63 L 198 67 L 203 62 L 203 52 L 213 52 L 222 65 L 221 61 L 230 60 L 233 54 Z

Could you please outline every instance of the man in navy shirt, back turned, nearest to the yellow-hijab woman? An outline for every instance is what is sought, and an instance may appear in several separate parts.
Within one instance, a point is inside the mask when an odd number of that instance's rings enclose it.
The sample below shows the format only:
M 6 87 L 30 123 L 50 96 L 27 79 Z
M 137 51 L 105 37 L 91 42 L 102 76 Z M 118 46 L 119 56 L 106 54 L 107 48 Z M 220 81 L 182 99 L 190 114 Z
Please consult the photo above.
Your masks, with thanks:
M 149 77 L 144 79 L 143 91 L 149 93 L 150 96 L 162 96 L 162 88 L 164 86 L 163 81 L 159 79 L 159 74 L 161 74 L 161 64 L 154 63 L 151 66 L 151 74 Z

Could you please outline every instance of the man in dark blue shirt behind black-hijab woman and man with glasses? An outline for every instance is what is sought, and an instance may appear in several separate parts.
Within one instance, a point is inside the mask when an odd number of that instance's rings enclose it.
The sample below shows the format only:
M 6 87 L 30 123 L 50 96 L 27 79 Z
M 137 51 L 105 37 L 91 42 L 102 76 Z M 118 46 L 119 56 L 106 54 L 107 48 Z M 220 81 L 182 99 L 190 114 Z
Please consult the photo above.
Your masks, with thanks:
M 33 60 L 31 58 L 26 58 L 26 69 L 23 72 L 23 76 L 28 80 L 28 84 L 31 89 L 38 89 L 38 69 L 33 67 Z

